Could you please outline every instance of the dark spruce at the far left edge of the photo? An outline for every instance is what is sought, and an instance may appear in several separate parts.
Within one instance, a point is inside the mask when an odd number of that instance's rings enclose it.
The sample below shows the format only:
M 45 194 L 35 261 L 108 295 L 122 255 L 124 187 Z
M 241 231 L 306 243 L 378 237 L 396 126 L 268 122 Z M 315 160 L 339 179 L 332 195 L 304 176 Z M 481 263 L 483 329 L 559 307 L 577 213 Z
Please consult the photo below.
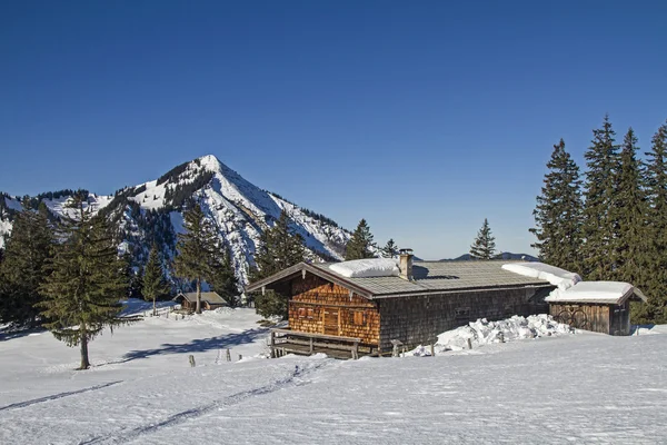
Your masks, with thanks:
M 39 309 L 34 305 L 42 299 L 39 288 L 48 276 L 44 266 L 52 257 L 53 231 L 43 202 L 37 211 L 29 200 L 22 205 L 0 265 L 0 322 L 36 326 Z

